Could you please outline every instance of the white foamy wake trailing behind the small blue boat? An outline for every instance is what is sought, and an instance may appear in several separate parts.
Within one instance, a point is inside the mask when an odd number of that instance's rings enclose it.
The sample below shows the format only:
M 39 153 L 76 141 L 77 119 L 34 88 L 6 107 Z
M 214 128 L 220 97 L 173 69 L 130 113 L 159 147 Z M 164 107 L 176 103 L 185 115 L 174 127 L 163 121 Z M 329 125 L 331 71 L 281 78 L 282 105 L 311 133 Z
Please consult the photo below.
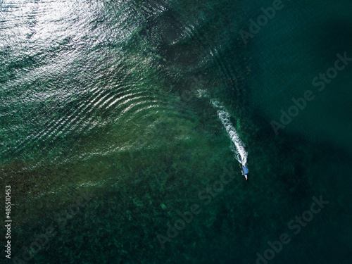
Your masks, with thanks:
M 209 98 L 212 106 L 217 109 L 218 117 L 222 122 L 222 125 L 224 125 L 225 130 L 233 143 L 231 144 L 231 150 L 234 152 L 234 156 L 236 157 L 237 161 L 239 161 L 239 163 L 246 165 L 248 153 L 245 149 L 244 143 L 239 138 L 239 134 L 232 125 L 230 120 L 230 113 L 224 106 L 222 106 L 220 102 L 211 99 L 205 91 L 199 91 L 199 96 Z

